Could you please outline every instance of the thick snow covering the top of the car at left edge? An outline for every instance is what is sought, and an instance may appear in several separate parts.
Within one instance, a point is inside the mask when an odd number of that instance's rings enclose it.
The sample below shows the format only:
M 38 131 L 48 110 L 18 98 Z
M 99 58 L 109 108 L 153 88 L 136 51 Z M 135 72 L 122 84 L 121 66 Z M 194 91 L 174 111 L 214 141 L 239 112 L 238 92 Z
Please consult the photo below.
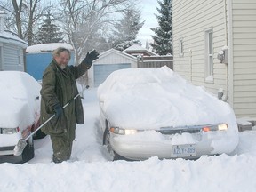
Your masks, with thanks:
M 25 72 L 1 71 L 0 127 L 22 130 L 32 125 L 40 114 L 40 89 Z

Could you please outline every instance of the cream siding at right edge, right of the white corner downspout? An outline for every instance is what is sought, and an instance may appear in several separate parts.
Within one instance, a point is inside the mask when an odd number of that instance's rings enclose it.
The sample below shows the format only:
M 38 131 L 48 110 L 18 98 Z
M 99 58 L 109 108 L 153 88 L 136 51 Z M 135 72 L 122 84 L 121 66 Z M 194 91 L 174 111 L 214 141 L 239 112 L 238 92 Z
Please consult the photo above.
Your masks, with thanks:
M 233 0 L 233 108 L 237 117 L 256 116 L 256 1 Z

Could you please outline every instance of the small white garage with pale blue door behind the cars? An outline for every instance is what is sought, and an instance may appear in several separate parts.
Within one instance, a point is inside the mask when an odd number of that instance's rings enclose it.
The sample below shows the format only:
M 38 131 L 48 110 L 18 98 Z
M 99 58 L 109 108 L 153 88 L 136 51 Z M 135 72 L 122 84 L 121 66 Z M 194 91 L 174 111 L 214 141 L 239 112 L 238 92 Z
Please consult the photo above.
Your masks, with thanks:
M 89 84 L 97 87 L 115 70 L 123 68 L 137 68 L 137 59 L 125 52 L 110 49 L 102 52 L 98 60 L 93 61 L 88 72 Z

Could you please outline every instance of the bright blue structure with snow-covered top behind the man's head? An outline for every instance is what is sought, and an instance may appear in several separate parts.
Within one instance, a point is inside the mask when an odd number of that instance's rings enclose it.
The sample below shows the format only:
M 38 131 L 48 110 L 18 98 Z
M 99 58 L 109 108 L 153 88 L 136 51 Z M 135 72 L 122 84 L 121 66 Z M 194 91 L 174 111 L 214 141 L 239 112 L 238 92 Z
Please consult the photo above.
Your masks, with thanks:
M 71 52 L 71 60 L 69 60 L 68 65 L 74 65 L 74 49 L 71 44 L 36 44 L 28 46 L 26 49 L 26 72 L 28 72 L 28 74 L 33 76 L 36 80 L 41 80 L 44 69 L 52 61 L 52 52 L 58 47 L 64 47 Z

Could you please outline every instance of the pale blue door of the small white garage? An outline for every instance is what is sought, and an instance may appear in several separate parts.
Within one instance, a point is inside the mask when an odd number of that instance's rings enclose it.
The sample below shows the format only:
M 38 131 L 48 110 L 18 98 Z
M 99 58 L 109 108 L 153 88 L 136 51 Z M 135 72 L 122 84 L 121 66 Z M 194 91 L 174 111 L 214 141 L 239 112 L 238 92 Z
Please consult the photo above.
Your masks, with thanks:
M 102 84 L 113 71 L 123 68 L 131 68 L 131 63 L 93 65 L 94 87 Z

